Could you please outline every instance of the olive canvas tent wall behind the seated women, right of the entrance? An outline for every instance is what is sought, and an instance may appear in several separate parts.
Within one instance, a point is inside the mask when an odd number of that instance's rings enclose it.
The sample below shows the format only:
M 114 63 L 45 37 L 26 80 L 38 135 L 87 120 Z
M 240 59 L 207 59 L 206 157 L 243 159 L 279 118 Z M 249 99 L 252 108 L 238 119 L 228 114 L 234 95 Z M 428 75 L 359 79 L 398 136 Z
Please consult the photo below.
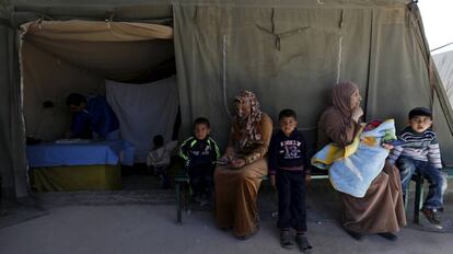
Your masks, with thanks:
M 453 163 L 452 111 L 415 3 L 179 1 L 174 27 L 184 132 L 204 115 L 224 140 L 231 102 L 249 89 L 274 120 L 294 108 L 299 127 L 314 135 L 328 90 L 351 80 L 365 120 L 396 118 L 402 129 L 410 108 L 433 107 L 443 159 Z

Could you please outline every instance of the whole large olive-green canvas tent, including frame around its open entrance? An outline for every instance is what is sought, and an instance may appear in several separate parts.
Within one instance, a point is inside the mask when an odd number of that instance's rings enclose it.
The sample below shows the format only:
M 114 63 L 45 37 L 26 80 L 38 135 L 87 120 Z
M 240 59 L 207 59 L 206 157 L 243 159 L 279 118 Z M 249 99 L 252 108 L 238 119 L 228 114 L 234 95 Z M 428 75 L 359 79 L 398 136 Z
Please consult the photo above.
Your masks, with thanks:
M 351 80 L 363 94 L 365 120 L 395 118 L 400 129 L 411 107 L 433 108 L 443 160 L 453 164 L 453 113 L 414 1 L 15 0 L 0 15 L 2 198 L 28 195 L 18 28 L 31 21 L 170 24 L 181 138 L 194 118 L 206 116 L 224 145 L 231 102 L 243 89 L 254 91 L 274 119 L 281 108 L 294 108 L 299 127 L 313 137 L 329 88 Z

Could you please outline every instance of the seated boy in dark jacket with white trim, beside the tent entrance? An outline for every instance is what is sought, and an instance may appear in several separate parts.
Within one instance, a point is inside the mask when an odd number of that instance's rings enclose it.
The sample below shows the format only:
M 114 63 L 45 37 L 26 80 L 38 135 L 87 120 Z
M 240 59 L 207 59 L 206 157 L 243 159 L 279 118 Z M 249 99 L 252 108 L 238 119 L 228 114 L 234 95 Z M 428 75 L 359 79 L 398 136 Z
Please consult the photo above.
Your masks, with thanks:
M 179 147 L 179 157 L 185 161 L 194 199 L 201 206 L 209 204 L 214 163 L 220 157 L 219 147 L 209 137 L 210 131 L 209 120 L 199 117 L 194 122 L 194 135 Z

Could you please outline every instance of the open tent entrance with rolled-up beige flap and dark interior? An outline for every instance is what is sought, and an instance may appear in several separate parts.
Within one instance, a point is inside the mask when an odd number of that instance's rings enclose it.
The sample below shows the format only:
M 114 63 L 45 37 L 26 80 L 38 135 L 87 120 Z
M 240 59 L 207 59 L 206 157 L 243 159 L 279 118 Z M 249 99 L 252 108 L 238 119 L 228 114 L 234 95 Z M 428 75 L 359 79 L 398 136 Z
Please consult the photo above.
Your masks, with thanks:
M 66 97 L 76 92 L 107 96 L 121 137 L 136 146 L 136 162 L 144 162 L 154 135 L 171 140 L 178 111 L 172 27 L 72 20 L 21 28 L 27 137 L 48 143 L 62 138 L 71 123 Z

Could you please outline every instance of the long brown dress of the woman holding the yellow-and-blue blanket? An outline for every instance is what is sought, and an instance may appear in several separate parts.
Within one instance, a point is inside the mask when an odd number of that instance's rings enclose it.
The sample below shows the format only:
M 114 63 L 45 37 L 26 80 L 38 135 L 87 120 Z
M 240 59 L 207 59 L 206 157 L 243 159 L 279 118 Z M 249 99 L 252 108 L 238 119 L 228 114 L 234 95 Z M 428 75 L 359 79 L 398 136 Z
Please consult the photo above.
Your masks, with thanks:
M 330 141 L 347 146 L 352 141 L 357 127 L 338 109 L 329 107 L 318 123 L 317 147 L 322 148 Z M 364 197 L 341 193 L 341 224 L 347 230 L 359 233 L 397 232 L 399 227 L 406 226 L 399 172 L 391 164 L 385 164 Z

